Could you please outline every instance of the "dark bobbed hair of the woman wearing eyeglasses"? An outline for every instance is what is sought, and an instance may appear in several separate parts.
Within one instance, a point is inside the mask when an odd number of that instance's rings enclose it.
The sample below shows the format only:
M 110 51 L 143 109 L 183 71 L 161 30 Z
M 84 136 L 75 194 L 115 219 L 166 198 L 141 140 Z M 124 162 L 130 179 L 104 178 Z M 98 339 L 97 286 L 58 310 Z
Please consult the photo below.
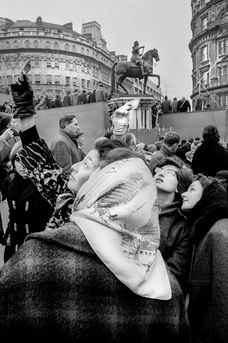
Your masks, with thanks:
M 171 157 L 166 157 L 163 159 L 163 161 L 160 161 L 157 163 L 154 168 L 152 175 L 154 176 L 155 173 L 155 168 L 159 167 L 162 168 L 163 166 L 171 164 L 172 166 L 178 168 L 178 173 L 176 173 L 176 178 L 177 178 L 177 191 L 178 193 L 176 194 L 176 197 L 178 200 L 183 200 L 181 198 L 181 194 L 186 192 L 188 187 L 192 184 L 194 181 L 194 176 L 192 173 L 192 170 L 187 169 L 183 161 L 177 157 L 177 156 L 171 156 Z

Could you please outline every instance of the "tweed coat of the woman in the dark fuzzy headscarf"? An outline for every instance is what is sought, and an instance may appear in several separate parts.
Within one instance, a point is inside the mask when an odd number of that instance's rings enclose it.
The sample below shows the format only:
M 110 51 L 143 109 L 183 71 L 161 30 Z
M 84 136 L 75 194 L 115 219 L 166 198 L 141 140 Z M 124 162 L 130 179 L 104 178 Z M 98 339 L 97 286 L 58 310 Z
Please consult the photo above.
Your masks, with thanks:
M 228 219 L 194 246 L 188 318 L 192 342 L 228 342 Z

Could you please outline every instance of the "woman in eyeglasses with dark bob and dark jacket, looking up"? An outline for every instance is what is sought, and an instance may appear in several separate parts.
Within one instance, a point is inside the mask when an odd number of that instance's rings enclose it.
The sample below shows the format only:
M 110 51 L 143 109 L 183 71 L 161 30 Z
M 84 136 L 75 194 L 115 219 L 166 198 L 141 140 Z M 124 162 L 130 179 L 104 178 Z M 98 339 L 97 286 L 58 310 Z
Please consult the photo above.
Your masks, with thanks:
M 159 250 L 180 283 L 185 297 L 192 244 L 189 240 L 191 227 L 181 212 L 181 194 L 191 185 L 193 175 L 180 158 L 172 156 L 156 164 L 153 178 L 158 190 Z

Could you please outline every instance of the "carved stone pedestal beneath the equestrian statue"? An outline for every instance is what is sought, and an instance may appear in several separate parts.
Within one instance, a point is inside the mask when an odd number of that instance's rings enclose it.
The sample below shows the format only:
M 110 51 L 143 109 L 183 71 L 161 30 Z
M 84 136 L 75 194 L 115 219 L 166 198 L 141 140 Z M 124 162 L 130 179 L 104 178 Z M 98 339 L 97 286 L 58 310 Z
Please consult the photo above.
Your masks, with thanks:
M 109 108 L 109 121 L 112 128 L 112 115 L 120 106 L 123 106 L 128 101 L 137 97 L 141 97 L 137 109 L 130 111 L 129 129 L 152 129 L 159 127 L 158 125 L 158 111 L 153 111 L 152 106 L 157 104 L 160 100 L 153 98 L 148 94 L 113 94 L 111 99 L 106 102 Z

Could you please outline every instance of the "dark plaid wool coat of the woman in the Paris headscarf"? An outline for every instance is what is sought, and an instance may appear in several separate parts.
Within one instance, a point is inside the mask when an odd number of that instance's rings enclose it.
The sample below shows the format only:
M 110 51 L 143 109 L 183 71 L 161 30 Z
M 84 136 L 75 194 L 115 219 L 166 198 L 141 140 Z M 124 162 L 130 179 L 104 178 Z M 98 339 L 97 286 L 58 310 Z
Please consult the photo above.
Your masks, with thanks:
M 185 301 L 134 294 L 76 224 L 29 235 L 0 270 L 0 337 L 13 342 L 190 342 Z

